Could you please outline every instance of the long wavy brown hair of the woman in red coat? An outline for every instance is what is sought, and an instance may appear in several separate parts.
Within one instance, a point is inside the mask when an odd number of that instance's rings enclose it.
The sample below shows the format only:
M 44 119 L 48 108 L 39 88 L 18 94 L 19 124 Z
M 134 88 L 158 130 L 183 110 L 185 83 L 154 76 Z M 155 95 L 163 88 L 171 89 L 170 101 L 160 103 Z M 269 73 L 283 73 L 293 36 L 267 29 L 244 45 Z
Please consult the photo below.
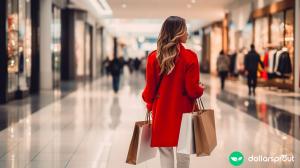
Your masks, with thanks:
M 180 37 L 185 33 L 185 19 L 170 16 L 164 21 L 157 40 L 157 59 L 161 69 L 160 74 L 169 74 L 174 69 L 175 58 L 179 54 Z

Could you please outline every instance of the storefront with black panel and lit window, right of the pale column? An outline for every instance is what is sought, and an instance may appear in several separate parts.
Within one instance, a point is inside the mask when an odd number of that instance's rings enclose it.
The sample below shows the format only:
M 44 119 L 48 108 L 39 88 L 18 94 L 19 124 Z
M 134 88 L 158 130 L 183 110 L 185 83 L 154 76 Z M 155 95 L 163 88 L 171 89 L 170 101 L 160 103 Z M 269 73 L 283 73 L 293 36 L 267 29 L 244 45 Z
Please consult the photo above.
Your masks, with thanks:
M 62 80 L 92 79 L 94 26 L 87 22 L 87 17 L 83 10 L 63 10 Z

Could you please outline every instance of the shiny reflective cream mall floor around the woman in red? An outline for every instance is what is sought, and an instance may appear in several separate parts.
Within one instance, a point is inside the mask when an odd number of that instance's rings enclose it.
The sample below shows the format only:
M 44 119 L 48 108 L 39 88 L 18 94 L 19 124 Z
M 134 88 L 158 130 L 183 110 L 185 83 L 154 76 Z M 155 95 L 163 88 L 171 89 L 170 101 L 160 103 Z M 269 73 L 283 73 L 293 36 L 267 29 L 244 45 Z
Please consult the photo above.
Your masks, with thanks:
M 295 162 L 245 161 L 241 167 L 300 167 L 299 95 L 258 88 L 256 97 L 248 97 L 242 82 L 228 81 L 221 92 L 217 78 L 201 80 L 207 85 L 204 104 L 215 110 L 218 146 L 211 156 L 191 156 L 191 168 L 232 167 L 228 157 L 236 150 L 245 157 L 295 156 Z M 103 77 L 34 113 L 31 103 L 4 116 L 9 124 L 0 132 L 0 168 L 159 168 L 159 156 L 125 164 L 134 122 L 145 116 L 143 86 L 141 74 L 125 73 L 114 94 L 111 78 Z

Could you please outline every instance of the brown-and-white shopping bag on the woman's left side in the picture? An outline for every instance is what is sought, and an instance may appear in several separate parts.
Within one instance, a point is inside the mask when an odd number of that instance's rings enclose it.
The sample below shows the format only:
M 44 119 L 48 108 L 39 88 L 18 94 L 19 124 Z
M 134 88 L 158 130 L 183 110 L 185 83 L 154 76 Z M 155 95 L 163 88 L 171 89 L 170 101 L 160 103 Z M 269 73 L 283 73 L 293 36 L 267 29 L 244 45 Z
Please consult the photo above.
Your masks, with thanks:
M 126 163 L 136 165 L 156 156 L 157 148 L 150 146 L 151 129 L 150 119 L 135 123 Z

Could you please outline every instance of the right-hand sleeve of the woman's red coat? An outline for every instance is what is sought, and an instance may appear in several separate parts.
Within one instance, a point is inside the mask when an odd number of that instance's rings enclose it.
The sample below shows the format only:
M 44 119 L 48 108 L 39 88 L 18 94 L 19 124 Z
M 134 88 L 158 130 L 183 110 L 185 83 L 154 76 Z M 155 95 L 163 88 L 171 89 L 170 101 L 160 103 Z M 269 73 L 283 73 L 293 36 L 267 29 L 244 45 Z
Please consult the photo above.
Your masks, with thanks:
M 191 56 L 191 61 L 187 64 L 185 72 L 185 90 L 192 99 L 201 97 L 203 88 L 199 85 L 200 68 L 196 54 Z

